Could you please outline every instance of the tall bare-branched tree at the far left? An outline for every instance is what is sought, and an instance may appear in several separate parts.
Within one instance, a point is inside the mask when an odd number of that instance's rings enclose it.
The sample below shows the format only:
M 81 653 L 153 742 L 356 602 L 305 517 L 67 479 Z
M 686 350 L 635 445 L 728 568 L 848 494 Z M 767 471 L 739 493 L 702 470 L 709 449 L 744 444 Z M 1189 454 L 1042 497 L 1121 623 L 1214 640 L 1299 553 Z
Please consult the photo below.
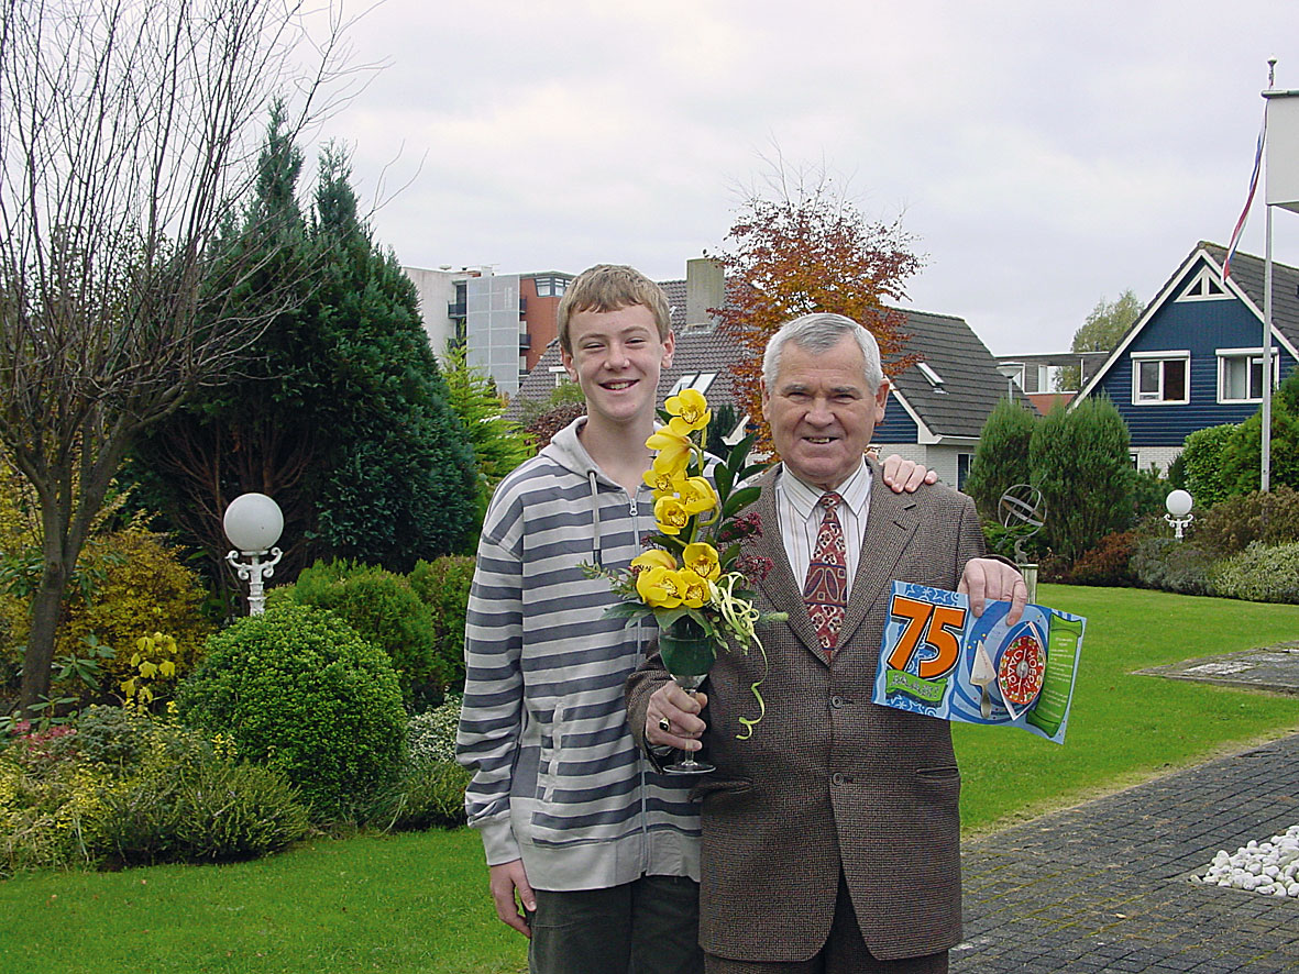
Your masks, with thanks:
M 131 443 L 297 293 L 233 314 L 266 255 L 231 260 L 222 230 L 273 100 L 291 99 L 300 131 L 364 78 L 342 27 L 331 3 L 301 0 L 0 0 L 0 443 L 36 492 L 44 549 L 29 710 Z

